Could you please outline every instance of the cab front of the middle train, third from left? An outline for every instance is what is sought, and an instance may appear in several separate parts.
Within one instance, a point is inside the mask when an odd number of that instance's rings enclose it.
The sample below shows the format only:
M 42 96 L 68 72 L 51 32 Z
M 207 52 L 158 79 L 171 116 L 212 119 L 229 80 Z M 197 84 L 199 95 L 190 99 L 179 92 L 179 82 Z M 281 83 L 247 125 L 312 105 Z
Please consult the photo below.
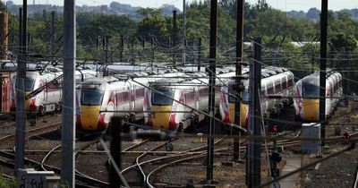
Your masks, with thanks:
M 158 83 L 150 83 L 144 96 L 144 120 L 147 126 L 162 130 L 183 129 L 183 106 L 175 100 L 181 101 L 180 92 L 174 87 L 163 86 Z M 173 100 L 175 98 L 175 100 Z M 183 102 L 183 101 L 182 101 Z

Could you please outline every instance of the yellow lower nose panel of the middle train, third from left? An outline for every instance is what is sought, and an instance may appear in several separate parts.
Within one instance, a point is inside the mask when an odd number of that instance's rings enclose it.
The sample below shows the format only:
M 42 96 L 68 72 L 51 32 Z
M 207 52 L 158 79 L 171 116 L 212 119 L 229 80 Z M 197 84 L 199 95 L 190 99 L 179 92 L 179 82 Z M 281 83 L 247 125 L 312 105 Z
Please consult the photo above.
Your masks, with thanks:
M 155 112 L 153 116 L 153 127 L 156 129 L 168 129 L 169 117 L 172 106 L 153 106 L 152 110 Z M 158 111 L 156 113 L 156 111 Z

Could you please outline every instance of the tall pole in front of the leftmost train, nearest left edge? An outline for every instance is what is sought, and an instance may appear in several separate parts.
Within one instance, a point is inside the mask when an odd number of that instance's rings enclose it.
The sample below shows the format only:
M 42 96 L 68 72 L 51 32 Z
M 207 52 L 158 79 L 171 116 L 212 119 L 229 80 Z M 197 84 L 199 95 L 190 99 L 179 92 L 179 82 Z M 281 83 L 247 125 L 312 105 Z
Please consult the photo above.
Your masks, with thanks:
M 19 173 L 19 169 L 24 168 L 23 158 L 25 157 L 25 124 L 26 124 L 26 111 L 25 111 L 25 90 L 24 90 L 24 81 L 26 78 L 26 38 L 23 40 L 22 35 L 26 35 L 24 33 L 23 27 L 26 28 L 26 21 L 23 21 L 24 17 L 22 14 L 26 13 L 24 9 L 27 8 L 27 2 L 24 1 L 22 7 L 23 9 L 19 9 L 19 33 L 20 33 L 20 46 L 21 52 L 19 55 L 19 59 L 17 61 L 17 69 L 16 69 L 16 140 L 15 140 L 15 170 L 17 175 L 18 185 L 21 182 L 21 177 Z M 25 17 L 26 19 L 26 17 Z M 26 29 L 25 29 L 26 31 Z

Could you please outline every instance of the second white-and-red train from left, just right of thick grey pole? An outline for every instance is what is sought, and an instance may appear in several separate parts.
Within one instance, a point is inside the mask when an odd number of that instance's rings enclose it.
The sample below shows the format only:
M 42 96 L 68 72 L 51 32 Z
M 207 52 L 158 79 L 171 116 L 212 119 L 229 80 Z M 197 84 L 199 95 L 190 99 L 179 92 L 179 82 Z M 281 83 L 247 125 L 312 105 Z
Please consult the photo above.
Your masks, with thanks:
M 76 88 L 77 130 L 105 132 L 114 115 L 132 122 L 141 119 L 145 87 L 149 81 L 184 75 L 167 70 L 154 75 L 134 73 L 132 76 L 136 78 L 133 79 L 129 79 L 129 75 L 114 74 L 83 81 Z

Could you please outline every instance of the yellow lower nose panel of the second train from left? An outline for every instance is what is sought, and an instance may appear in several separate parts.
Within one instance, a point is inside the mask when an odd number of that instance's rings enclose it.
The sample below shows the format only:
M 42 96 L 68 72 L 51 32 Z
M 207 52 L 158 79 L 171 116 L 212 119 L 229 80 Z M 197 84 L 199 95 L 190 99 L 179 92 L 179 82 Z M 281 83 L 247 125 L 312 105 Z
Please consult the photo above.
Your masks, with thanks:
M 83 130 L 96 131 L 98 129 L 98 115 L 100 106 L 81 106 L 81 125 Z

